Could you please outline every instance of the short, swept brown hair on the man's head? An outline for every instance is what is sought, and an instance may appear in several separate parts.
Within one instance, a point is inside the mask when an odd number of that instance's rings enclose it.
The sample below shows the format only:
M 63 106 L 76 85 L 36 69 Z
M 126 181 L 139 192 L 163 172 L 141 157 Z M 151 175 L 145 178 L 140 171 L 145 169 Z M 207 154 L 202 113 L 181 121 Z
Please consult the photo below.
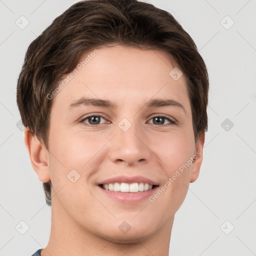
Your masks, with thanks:
M 192 110 L 194 139 L 207 131 L 208 74 L 197 47 L 167 11 L 137 0 L 85 0 L 69 7 L 34 39 L 17 81 L 22 123 L 48 149 L 52 100 L 47 95 L 81 55 L 119 44 L 163 50 L 183 72 Z M 51 181 L 43 183 L 51 205 Z

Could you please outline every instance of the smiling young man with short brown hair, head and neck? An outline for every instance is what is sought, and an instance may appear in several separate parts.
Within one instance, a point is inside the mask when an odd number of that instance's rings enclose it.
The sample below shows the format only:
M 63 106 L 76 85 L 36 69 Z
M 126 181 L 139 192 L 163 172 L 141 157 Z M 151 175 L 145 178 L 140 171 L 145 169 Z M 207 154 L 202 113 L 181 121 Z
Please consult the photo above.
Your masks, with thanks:
M 191 37 L 136 0 L 80 1 L 28 47 L 17 104 L 51 232 L 33 255 L 168 255 L 197 179 L 208 75 Z

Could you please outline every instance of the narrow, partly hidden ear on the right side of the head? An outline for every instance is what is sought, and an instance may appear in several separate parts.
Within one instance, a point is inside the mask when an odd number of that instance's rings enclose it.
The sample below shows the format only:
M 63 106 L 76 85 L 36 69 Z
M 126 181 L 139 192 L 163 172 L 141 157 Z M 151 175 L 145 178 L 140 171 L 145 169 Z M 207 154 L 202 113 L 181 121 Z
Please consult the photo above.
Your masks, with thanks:
M 195 152 L 194 152 L 195 157 L 191 166 L 190 182 L 194 182 L 199 176 L 200 167 L 202 163 L 202 150 L 203 150 L 204 138 L 205 138 L 205 132 L 202 131 L 195 145 Z

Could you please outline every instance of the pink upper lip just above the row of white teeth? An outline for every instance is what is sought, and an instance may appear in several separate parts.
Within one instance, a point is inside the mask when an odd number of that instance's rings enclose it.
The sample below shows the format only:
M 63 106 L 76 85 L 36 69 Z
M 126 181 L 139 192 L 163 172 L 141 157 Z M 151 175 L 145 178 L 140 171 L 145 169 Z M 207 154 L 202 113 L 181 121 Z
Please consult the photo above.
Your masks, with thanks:
M 115 176 L 115 177 L 111 177 L 111 178 L 107 178 L 104 179 L 100 182 L 97 183 L 97 185 L 100 184 L 109 184 L 109 183 L 114 183 L 114 182 L 118 182 L 118 183 L 135 183 L 135 182 L 143 182 L 143 183 L 148 183 L 149 185 L 157 185 L 157 182 L 147 178 L 147 177 L 143 177 L 143 176 Z

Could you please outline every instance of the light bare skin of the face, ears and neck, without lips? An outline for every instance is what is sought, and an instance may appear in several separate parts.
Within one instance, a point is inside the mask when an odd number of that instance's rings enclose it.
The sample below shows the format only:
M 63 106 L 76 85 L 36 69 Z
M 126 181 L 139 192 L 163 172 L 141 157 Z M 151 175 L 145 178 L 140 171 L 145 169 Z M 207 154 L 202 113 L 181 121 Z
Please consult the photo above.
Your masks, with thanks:
M 41 182 L 52 183 L 51 232 L 42 256 L 168 255 L 174 214 L 189 182 L 197 179 L 204 132 L 194 141 L 192 114 L 183 75 L 174 80 L 173 65 L 162 51 L 114 45 L 99 52 L 53 97 L 49 151 L 25 129 L 24 141 Z M 88 54 L 88 53 L 87 53 Z M 84 54 L 81 59 L 84 59 Z M 81 96 L 108 99 L 116 108 L 80 105 Z M 174 99 L 183 105 L 147 108 L 153 98 Z M 101 115 L 98 123 L 88 114 Z M 153 116 L 167 119 L 153 122 Z M 118 123 L 126 118 L 127 131 Z M 201 154 L 157 198 L 122 203 L 99 191 L 96 182 L 117 174 L 142 175 L 163 186 L 196 151 Z M 75 169 L 80 178 L 66 175 Z M 118 226 L 126 221 L 127 233 Z

